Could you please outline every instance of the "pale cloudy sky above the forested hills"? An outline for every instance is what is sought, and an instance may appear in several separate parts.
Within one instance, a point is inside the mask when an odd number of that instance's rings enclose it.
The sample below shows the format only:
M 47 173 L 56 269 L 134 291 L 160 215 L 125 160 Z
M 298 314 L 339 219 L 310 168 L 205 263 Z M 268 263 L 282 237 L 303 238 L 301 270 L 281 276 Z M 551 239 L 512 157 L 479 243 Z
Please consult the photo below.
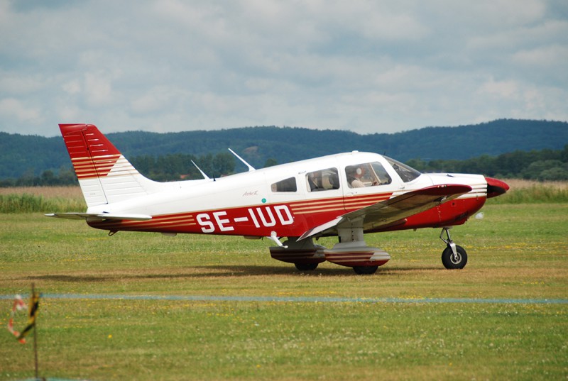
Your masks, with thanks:
M 0 131 L 568 121 L 566 0 L 0 0 Z

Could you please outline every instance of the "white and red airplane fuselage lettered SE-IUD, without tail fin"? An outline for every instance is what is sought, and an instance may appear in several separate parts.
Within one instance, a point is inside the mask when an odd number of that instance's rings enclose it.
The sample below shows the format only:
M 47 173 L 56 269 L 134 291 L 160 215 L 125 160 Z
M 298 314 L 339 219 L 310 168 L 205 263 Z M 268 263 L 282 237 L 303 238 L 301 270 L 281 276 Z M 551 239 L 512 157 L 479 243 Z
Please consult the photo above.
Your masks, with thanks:
M 388 184 L 349 187 L 346 167 L 378 162 L 390 177 Z M 337 187 L 310 189 L 307 175 L 321 170 L 337 170 Z M 451 176 L 451 177 L 450 177 Z M 295 191 L 280 192 L 274 184 L 293 179 Z M 292 181 L 292 180 L 290 180 Z M 209 180 L 168 183 L 168 189 L 147 197 L 126 199 L 89 208 L 89 213 L 148 214 L 148 221 L 88 221 L 90 226 L 109 231 L 154 231 L 163 233 L 204 233 L 234 236 L 300 236 L 311 226 L 361 207 L 376 204 L 398 194 L 444 184 L 466 184 L 472 190 L 457 199 L 410 216 L 394 226 L 365 232 L 452 226 L 464 223 L 481 209 L 486 200 L 487 182 L 481 175 L 421 174 L 403 182 L 397 172 L 375 153 L 343 153 L 277 165 L 253 172 Z M 219 205 L 222 205 L 219 208 Z

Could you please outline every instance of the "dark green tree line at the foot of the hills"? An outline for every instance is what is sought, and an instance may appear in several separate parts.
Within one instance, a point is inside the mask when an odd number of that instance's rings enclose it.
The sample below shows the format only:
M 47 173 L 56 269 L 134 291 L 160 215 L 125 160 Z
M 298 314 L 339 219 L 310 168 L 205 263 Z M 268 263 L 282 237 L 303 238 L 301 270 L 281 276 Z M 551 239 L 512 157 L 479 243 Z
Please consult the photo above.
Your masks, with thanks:
M 160 182 L 201 179 L 201 172 L 209 177 L 221 177 L 236 172 L 237 162 L 230 153 L 212 155 L 140 155 L 130 162 L 144 176 Z M 266 160 L 264 167 L 278 164 L 275 159 Z M 498 156 L 481 155 L 466 160 L 407 160 L 406 164 L 420 172 L 479 173 L 502 178 L 522 178 L 539 181 L 568 180 L 568 144 L 562 150 L 516 150 Z M 239 164 L 240 165 L 240 164 Z M 33 170 L 17 179 L 0 180 L 0 187 L 33 187 L 76 185 L 77 177 L 70 167 L 59 171 L 45 170 L 34 176 Z

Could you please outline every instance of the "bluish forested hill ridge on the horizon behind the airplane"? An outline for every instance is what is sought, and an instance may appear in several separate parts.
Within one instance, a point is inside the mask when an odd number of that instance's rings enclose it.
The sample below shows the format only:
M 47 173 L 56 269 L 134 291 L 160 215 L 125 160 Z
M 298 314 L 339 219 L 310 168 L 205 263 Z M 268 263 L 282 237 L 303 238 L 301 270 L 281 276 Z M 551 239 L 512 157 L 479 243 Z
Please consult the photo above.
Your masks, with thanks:
M 104 126 L 102 132 L 104 133 Z M 58 127 L 53 126 L 58 132 Z M 398 160 L 468 159 L 515 150 L 559 150 L 568 143 L 568 123 L 501 119 L 459 127 L 426 127 L 401 133 L 359 135 L 349 131 L 307 128 L 246 127 L 220 131 L 109 133 L 127 158 L 174 153 L 205 155 L 232 148 L 255 167 L 267 159 L 291 162 L 351 150 L 386 154 Z M 70 167 L 60 136 L 0 133 L 0 179 L 40 175 Z

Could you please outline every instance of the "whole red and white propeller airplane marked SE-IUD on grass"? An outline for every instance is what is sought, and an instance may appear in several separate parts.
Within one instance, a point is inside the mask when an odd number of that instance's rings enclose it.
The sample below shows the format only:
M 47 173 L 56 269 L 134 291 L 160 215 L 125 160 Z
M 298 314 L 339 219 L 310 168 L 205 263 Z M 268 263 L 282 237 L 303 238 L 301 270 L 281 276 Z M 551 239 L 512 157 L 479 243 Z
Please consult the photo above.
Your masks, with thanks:
M 109 231 L 219 234 L 270 238 L 272 258 L 315 270 L 325 260 L 373 274 L 391 259 L 366 245 L 364 233 L 442 228 L 442 263 L 461 269 L 466 250 L 449 228 L 508 191 L 482 175 L 424 174 L 376 153 L 339 153 L 226 177 L 155 182 L 141 175 L 91 124 L 59 125 L 86 212 L 46 216 L 84 219 Z M 195 164 L 195 163 L 194 163 Z M 196 165 L 197 167 L 197 165 Z M 199 167 L 197 167 L 199 170 Z M 445 236 L 444 236 L 445 235 Z M 314 243 L 337 236 L 332 248 Z M 281 238 L 286 238 L 284 242 Z

